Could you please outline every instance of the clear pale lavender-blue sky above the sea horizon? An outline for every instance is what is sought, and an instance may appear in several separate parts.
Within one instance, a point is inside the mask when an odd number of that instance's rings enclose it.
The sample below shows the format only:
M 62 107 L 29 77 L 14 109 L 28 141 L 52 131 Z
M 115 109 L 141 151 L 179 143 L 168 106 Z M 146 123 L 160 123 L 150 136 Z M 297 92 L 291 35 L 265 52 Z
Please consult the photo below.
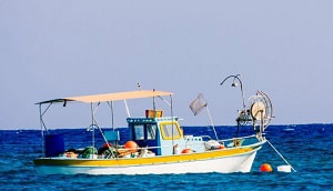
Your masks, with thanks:
M 272 124 L 333 122 L 333 1 L 0 0 L 0 129 L 39 129 L 34 103 L 142 89 L 171 91 L 182 125 L 198 93 L 215 125 L 235 124 L 258 90 L 273 103 Z M 151 102 L 150 102 L 151 103 Z M 144 114 L 151 104 L 129 100 Z M 162 101 L 157 103 L 158 107 Z M 162 107 L 162 105 L 161 105 Z M 108 107 L 98 112 L 110 127 Z M 123 102 L 114 124 L 125 125 Z M 108 110 L 109 111 L 109 110 Z M 81 128 L 90 105 L 52 105 L 44 122 Z M 165 111 L 167 113 L 167 111 Z

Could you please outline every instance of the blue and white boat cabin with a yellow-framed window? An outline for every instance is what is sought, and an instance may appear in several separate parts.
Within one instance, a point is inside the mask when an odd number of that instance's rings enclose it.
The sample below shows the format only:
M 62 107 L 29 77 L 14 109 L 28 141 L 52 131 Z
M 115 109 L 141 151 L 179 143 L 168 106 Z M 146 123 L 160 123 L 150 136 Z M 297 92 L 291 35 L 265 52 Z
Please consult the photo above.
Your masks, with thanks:
M 202 137 L 183 135 L 176 117 L 128 118 L 130 140 L 140 148 L 148 148 L 157 155 L 178 154 L 185 149 L 203 152 Z

